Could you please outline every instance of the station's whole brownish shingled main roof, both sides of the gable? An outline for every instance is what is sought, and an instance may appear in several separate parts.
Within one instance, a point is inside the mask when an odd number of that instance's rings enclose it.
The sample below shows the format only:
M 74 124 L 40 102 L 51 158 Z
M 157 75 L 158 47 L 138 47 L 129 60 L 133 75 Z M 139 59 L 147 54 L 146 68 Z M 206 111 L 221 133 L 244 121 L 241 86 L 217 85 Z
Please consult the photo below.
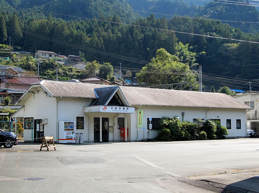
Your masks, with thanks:
M 94 88 L 110 85 L 42 81 L 40 83 L 53 96 L 96 98 Z M 148 89 L 120 86 L 125 98 L 133 105 L 206 107 L 249 109 L 248 106 L 231 96 L 221 93 Z

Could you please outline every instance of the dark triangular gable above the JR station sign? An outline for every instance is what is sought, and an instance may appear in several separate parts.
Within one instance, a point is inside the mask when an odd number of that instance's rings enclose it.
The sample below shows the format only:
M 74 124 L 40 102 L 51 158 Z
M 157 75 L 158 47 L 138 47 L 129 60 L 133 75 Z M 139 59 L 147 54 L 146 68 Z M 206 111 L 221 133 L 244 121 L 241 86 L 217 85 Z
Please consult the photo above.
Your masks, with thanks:
M 89 106 L 130 106 L 119 86 L 93 89 L 97 97 Z

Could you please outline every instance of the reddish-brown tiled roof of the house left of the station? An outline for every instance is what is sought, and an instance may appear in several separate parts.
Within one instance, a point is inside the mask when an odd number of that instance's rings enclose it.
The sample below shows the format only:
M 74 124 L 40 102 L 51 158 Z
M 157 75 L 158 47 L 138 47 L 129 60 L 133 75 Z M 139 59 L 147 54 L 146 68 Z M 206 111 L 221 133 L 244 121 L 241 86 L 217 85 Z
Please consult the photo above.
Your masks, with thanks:
M 23 85 L 31 85 L 37 82 L 40 82 L 41 79 L 39 77 L 31 77 L 31 76 L 0 76 L 2 81 L 6 84 L 23 84 Z

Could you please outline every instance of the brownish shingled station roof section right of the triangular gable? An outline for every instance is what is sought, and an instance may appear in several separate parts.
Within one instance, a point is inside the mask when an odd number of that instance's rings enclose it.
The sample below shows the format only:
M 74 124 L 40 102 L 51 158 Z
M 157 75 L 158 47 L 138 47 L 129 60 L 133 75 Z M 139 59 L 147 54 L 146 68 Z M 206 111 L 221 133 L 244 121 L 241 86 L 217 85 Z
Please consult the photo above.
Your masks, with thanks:
M 206 107 L 249 109 L 232 96 L 221 93 L 148 89 L 121 86 L 121 91 L 132 104 L 151 106 Z

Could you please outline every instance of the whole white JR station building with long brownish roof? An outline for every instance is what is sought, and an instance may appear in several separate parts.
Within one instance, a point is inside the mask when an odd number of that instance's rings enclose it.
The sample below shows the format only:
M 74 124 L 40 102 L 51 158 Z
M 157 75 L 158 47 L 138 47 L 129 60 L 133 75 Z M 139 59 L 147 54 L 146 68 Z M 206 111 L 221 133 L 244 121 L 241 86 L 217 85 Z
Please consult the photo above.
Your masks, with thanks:
M 16 120 L 30 120 L 41 128 L 33 130 L 34 141 L 52 135 L 59 143 L 75 142 L 75 133 L 83 133 L 84 142 L 147 139 L 149 117 L 152 129 L 162 117 L 190 122 L 200 118 L 220 122 L 228 137 L 246 137 L 246 110 L 251 109 L 221 93 L 47 80 L 32 84 L 16 104 L 22 106 L 13 115 Z M 24 140 L 31 140 L 31 133 L 25 129 Z M 152 130 L 150 138 L 157 134 Z

